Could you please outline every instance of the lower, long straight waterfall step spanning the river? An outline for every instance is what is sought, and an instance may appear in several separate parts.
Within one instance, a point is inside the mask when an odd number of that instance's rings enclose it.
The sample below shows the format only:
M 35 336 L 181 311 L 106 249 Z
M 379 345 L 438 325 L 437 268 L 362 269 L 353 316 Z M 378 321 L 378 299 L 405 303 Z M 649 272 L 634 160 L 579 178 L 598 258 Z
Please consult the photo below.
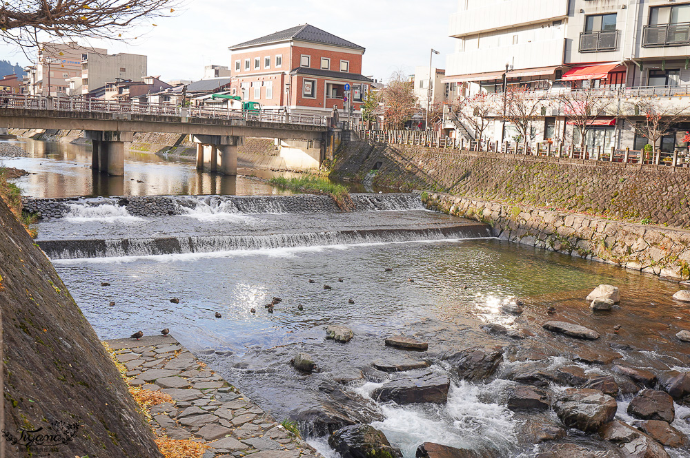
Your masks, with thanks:
M 182 253 L 223 253 L 296 247 L 337 247 L 355 244 L 457 240 L 490 236 L 489 228 L 483 225 L 457 225 L 433 229 L 366 229 L 240 236 L 43 240 L 39 242 L 39 246 L 51 259 L 58 260 Z

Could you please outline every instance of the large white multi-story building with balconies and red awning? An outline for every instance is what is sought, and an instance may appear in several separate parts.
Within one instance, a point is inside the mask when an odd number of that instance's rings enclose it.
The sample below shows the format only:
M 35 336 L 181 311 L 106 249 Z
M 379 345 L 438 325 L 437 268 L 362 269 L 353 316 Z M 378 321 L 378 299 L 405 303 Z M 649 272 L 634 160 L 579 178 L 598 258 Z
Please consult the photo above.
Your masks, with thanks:
M 506 85 L 554 95 L 605 88 L 619 102 L 634 98 L 640 87 L 661 97 L 690 85 L 690 1 L 460 0 L 450 35 L 457 43 L 444 82 L 466 83 L 470 96 L 502 92 L 504 76 Z M 540 114 L 535 140 L 577 137 L 563 110 Z M 633 132 L 631 122 L 602 116 L 586 143 L 640 149 L 647 139 Z M 502 128 L 496 121 L 489 136 L 509 140 L 515 133 L 510 125 L 505 133 Z M 689 130 L 678 123 L 658 146 L 673 150 Z

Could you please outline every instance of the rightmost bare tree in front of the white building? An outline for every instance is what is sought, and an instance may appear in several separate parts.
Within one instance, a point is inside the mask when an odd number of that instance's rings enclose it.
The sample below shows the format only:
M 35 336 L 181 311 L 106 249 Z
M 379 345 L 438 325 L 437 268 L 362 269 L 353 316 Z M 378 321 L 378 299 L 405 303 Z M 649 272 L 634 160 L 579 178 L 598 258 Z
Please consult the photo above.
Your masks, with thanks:
M 673 133 L 674 125 L 687 121 L 689 117 L 687 105 L 671 99 L 640 98 L 639 101 L 628 102 L 624 108 L 618 116 L 625 119 L 636 134 L 649 140 L 654 156 L 662 136 Z

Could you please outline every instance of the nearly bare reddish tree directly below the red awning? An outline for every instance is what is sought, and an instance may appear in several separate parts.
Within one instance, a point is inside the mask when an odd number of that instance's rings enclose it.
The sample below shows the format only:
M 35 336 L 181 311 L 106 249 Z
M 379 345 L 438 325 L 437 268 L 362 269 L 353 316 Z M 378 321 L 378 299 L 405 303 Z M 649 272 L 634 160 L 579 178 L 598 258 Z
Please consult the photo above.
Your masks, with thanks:
M 597 118 L 609 114 L 614 97 L 607 90 L 593 87 L 590 81 L 585 89 L 562 92 L 558 100 L 565 116 L 580 132 L 580 148 L 584 150 L 587 132 Z

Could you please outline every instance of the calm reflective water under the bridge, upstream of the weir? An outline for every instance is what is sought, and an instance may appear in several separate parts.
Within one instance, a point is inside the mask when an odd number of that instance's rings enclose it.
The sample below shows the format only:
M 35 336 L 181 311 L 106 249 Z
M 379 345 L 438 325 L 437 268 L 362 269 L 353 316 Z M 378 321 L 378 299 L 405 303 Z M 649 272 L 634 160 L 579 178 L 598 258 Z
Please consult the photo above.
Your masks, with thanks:
M 31 173 L 15 182 L 24 194 L 31 197 L 292 194 L 246 176 L 198 171 L 193 160 L 126 152 L 125 175 L 108 176 L 91 170 L 91 147 L 88 145 L 26 138 L 19 140 L 17 144 L 28 151 L 29 157 L 0 157 L 0 163 Z M 239 174 L 269 178 L 273 172 L 240 169 Z

